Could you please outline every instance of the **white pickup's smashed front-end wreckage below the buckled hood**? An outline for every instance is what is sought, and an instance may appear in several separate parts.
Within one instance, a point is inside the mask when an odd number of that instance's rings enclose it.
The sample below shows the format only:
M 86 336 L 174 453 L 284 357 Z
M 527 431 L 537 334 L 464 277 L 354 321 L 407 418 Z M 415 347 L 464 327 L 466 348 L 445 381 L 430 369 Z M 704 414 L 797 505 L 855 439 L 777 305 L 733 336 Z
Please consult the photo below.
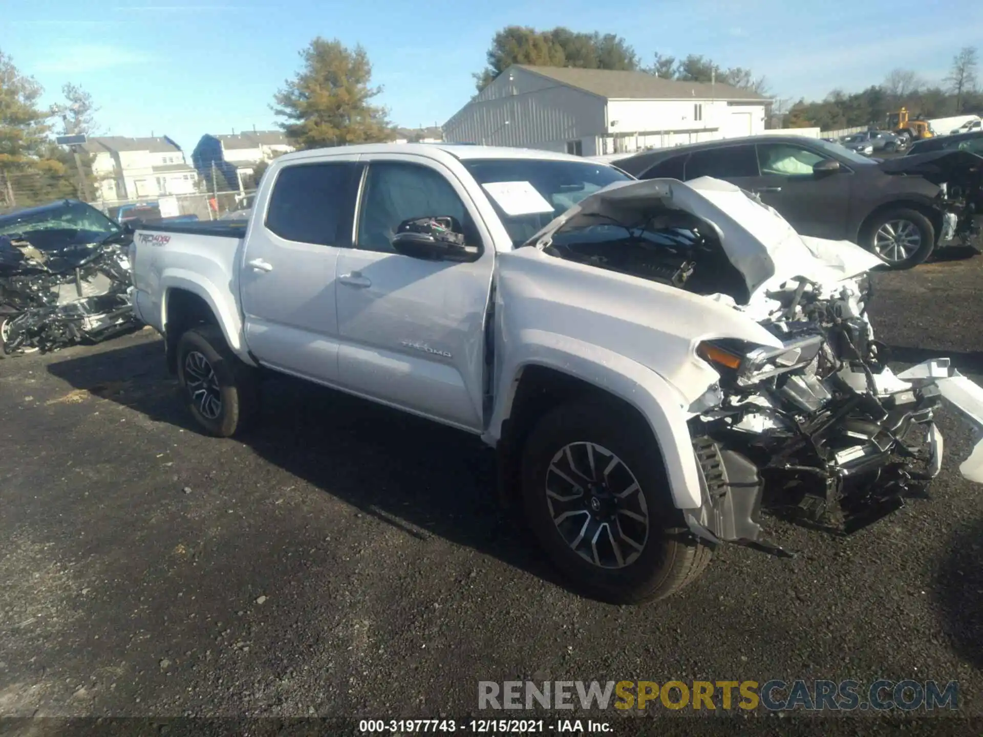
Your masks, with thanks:
M 983 426 L 983 389 L 941 359 L 895 374 L 866 311 L 867 278 L 833 287 L 799 280 L 770 294 L 762 320 L 781 348 L 703 342 L 719 402 L 690 421 L 703 506 L 698 535 L 781 549 L 760 513 L 850 534 L 922 493 L 944 442 L 935 412 L 949 400 Z M 983 443 L 960 467 L 983 482 Z

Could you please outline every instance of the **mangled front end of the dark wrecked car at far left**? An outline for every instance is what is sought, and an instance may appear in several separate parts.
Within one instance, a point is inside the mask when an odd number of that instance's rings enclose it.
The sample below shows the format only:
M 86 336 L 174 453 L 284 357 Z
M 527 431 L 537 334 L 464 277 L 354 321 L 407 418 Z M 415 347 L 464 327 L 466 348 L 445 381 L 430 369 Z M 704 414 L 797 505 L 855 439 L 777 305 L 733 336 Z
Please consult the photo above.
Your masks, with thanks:
M 24 237 L 0 235 L 3 352 L 47 353 L 132 329 L 129 268 L 120 243 L 42 251 Z

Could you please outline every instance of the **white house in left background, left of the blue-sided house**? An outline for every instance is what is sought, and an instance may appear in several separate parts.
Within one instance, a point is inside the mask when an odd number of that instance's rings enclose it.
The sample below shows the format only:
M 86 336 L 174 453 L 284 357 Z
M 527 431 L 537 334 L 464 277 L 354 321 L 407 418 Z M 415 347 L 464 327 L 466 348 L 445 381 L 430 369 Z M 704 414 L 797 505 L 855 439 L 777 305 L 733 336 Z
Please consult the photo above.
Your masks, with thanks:
M 100 200 L 150 199 L 196 192 L 198 175 L 181 146 L 166 136 L 128 139 L 90 138 L 83 146 L 93 155 L 92 173 Z

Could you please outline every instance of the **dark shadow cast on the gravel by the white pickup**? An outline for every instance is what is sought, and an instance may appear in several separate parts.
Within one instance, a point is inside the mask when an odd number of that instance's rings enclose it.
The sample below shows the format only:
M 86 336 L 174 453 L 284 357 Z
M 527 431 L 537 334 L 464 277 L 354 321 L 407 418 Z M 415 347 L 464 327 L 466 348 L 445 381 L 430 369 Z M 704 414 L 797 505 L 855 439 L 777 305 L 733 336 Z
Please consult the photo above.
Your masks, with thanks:
M 73 357 L 47 369 L 153 422 L 200 431 L 181 404 L 159 341 Z M 263 381 L 260 417 L 237 439 L 269 463 L 407 535 L 472 547 L 567 588 L 498 503 L 494 455 L 477 437 L 276 375 Z

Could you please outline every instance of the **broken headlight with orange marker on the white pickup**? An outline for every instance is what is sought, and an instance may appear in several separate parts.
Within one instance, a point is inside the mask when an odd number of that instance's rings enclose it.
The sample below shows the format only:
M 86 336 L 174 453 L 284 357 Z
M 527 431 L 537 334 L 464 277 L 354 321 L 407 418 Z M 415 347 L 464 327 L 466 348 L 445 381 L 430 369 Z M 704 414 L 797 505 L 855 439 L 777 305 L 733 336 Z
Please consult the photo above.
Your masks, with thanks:
M 811 364 L 823 348 L 822 335 L 783 341 L 781 347 L 760 346 L 737 340 L 703 341 L 696 354 L 737 386 L 752 386 L 780 373 Z

